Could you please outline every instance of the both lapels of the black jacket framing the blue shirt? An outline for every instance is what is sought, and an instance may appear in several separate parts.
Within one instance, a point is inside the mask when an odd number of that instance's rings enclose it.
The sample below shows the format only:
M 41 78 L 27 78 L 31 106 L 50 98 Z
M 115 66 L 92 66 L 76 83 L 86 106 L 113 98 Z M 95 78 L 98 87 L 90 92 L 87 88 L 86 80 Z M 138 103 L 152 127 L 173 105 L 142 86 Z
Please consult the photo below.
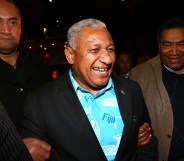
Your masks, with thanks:
M 83 110 L 83 107 L 74 91 L 74 88 L 69 80 L 69 76 L 63 77 L 63 81 L 58 83 L 58 99 L 63 104 L 63 98 L 67 98 L 65 100 L 65 105 L 63 108 L 65 108 L 66 114 L 70 117 L 73 124 L 79 129 L 81 135 L 83 135 L 84 138 L 89 142 L 90 145 L 94 147 L 94 149 L 97 151 L 97 153 L 106 159 L 103 150 L 96 138 L 96 135 L 91 127 L 90 122 L 88 121 L 88 118 Z M 124 122 L 124 130 L 122 139 L 120 141 L 118 153 L 116 156 L 116 159 L 119 158 L 122 155 L 122 152 L 124 152 L 126 140 L 130 133 L 130 127 L 132 123 L 132 102 L 131 102 L 131 91 L 128 90 L 126 81 L 124 83 L 120 81 L 115 81 L 115 92 L 117 95 L 117 101 L 120 108 L 120 113 L 123 118 Z

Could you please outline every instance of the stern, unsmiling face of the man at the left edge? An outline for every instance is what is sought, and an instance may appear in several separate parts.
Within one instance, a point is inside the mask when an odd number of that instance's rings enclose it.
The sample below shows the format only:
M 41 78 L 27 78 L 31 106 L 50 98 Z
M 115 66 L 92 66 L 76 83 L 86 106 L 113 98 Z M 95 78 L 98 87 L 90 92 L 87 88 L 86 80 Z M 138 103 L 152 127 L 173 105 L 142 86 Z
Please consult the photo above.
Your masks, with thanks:
M 9 55 L 17 49 L 21 37 L 21 16 L 17 8 L 0 1 L 0 54 Z

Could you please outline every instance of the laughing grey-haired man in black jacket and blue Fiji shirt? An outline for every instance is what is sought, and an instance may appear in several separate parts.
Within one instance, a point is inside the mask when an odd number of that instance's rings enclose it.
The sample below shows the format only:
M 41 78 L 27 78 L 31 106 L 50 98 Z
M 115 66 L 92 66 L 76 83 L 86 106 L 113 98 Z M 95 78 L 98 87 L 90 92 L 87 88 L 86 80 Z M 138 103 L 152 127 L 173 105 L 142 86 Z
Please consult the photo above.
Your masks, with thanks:
M 72 67 L 29 94 L 22 136 L 48 142 L 53 161 L 157 161 L 153 131 L 137 146 L 150 118 L 138 83 L 111 75 L 115 45 L 106 25 L 84 19 L 67 38 Z

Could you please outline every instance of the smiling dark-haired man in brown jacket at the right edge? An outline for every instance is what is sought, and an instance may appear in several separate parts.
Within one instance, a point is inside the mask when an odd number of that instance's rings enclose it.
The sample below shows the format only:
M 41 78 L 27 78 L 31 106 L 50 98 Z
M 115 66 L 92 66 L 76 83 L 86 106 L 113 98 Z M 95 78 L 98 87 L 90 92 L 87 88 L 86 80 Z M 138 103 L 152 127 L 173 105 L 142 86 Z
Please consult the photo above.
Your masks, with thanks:
M 159 54 L 131 70 L 141 85 L 159 144 L 159 161 L 184 161 L 184 20 L 171 18 L 157 32 Z

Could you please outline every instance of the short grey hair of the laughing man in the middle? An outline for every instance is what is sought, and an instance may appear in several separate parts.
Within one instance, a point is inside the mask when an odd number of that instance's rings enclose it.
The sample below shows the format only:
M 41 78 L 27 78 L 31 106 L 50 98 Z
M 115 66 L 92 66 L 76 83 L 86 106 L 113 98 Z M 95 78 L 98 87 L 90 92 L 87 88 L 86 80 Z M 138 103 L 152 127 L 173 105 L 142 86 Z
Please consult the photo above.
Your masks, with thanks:
M 106 24 L 98 19 L 87 18 L 73 24 L 67 33 L 67 43 L 73 50 L 76 50 L 76 40 L 80 37 L 84 27 L 106 28 Z

